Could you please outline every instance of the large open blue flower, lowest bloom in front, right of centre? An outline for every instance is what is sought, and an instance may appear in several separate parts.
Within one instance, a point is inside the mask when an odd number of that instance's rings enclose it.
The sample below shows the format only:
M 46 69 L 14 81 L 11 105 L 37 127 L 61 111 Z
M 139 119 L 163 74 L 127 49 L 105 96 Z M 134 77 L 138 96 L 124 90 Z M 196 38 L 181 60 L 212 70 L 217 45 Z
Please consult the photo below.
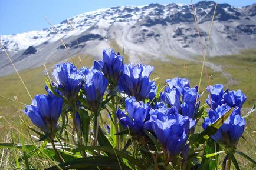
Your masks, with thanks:
M 184 149 L 189 131 L 196 121 L 178 114 L 172 107 L 167 113 L 162 109 L 152 109 L 150 124 L 163 149 L 166 149 L 169 155 L 178 155 Z

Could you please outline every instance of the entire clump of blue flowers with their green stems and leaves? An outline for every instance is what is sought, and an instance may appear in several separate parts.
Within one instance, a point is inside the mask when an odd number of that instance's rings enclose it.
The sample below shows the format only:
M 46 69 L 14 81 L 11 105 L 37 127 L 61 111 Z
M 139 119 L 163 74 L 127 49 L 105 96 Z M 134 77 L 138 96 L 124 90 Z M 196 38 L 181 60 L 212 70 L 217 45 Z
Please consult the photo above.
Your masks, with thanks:
M 193 159 L 196 159 L 196 151 L 198 151 L 196 147 L 202 146 L 203 142 L 208 143 L 205 138 L 207 131 L 195 134 L 195 126 L 200 118 L 204 119 L 202 123 L 204 129 L 209 129 L 208 126 L 213 124 L 212 131 L 216 133 L 211 138 L 214 141 L 228 148 L 237 146 L 245 128 L 245 118 L 241 116 L 241 108 L 246 96 L 242 91 L 224 91 L 224 85 L 219 84 L 206 88 L 209 92 L 206 103 L 210 109 L 208 117 L 205 117 L 207 105 L 199 109 L 200 95 L 197 86 L 191 87 L 187 78 L 175 77 L 166 80 L 164 91 L 161 92 L 160 84 L 156 88 L 156 82 L 150 79 L 153 69 L 150 65 L 124 64 L 123 56 L 119 52 L 115 53 L 113 49 L 104 50 L 103 59 L 94 61 L 91 68 L 77 69 L 70 62 L 57 64 L 52 72 L 54 82 L 47 79 L 47 86 L 45 86 L 47 95 L 35 95 L 32 104 L 25 106 L 24 112 L 35 126 L 46 134 L 45 136 L 50 135 L 52 148 L 59 162 L 64 162 L 62 159 L 65 156 L 62 158 L 58 154 L 54 138 L 63 140 L 64 136 L 68 135 L 63 131 L 68 131 L 70 128 L 73 143 L 77 147 L 99 144 L 104 147 L 104 151 L 97 151 L 99 155 L 102 158 L 103 155 L 108 155 L 107 158 L 113 161 L 109 151 L 115 151 L 124 146 L 123 151 L 129 153 L 127 148 L 133 145 L 134 148 L 130 147 L 132 148 L 130 150 L 134 149 L 136 153 L 140 153 L 129 154 L 129 156 L 146 155 L 143 161 L 148 159 L 146 165 L 150 165 L 151 169 L 152 162 L 154 162 L 154 169 L 170 169 L 170 164 L 176 164 L 172 166 L 174 169 L 180 169 L 181 166 L 182 169 L 188 167 L 192 169 L 189 159 L 192 160 L 193 155 L 195 155 Z M 227 112 L 231 108 L 234 110 L 227 118 Z M 100 119 L 104 117 L 101 114 L 109 114 L 111 120 L 106 120 L 106 124 Z M 62 124 L 58 125 L 60 115 L 62 115 Z M 215 127 L 219 127 L 218 120 L 224 117 L 225 122 L 217 131 Z M 70 118 L 72 121 L 69 121 Z M 91 124 L 92 121 L 93 124 Z M 59 126 L 61 127 L 58 128 Z M 104 126 L 106 131 L 102 130 Z M 124 130 L 126 128 L 127 130 Z M 90 131 L 90 129 L 93 130 Z M 127 135 L 128 132 L 130 138 L 119 136 Z M 91 136 L 93 137 L 89 139 Z M 65 137 L 67 137 L 66 141 L 69 141 L 69 136 Z M 198 141 L 195 138 L 198 138 Z M 112 146 L 113 148 L 108 148 Z M 70 150 L 70 152 L 73 151 L 73 149 Z M 81 156 L 89 158 L 90 155 L 97 154 L 94 149 L 78 150 L 80 155 L 76 158 L 79 159 Z M 76 153 L 73 154 L 77 154 L 78 150 L 74 149 Z M 93 152 L 90 153 L 92 150 Z M 126 152 L 122 152 L 122 156 L 123 154 Z M 138 164 L 133 167 L 134 162 L 129 164 L 123 160 L 120 159 L 121 162 L 116 165 L 139 168 Z M 191 165 L 186 166 L 186 164 Z M 109 166 L 106 169 L 111 169 Z M 150 168 L 142 166 L 140 169 Z

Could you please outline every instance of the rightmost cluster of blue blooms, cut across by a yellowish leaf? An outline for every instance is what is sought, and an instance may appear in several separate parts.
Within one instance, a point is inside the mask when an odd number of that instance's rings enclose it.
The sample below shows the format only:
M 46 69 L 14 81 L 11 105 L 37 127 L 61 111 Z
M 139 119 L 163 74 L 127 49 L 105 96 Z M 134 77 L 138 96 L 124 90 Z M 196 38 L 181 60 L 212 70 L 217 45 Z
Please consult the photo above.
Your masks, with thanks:
M 214 123 L 220 116 L 225 114 L 230 108 L 234 111 L 229 118 L 222 124 L 215 135 L 212 136 L 217 142 L 228 146 L 236 146 L 239 138 L 244 132 L 245 119 L 241 117 L 241 108 L 246 100 L 246 96 L 241 90 L 224 91 L 224 85 L 209 86 L 206 103 L 211 107 L 208 111 L 208 118 L 205 118 L 202 124 L 206 129 L 209 124 Z

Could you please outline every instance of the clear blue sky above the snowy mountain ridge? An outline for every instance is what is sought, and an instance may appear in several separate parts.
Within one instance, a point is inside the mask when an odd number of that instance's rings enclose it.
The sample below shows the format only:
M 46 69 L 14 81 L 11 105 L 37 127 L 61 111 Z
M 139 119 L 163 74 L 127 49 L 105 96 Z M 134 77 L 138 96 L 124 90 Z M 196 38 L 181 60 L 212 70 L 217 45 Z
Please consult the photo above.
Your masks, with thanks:
M 190 4 L 191 0 L 0 0 L 0 35 L 47 28 L 49 24 L 44 19 L 44 16 L 52 24 L 58 24 L 64 19 L 100 8 L 123 5 L 146 5 L 153 2 L 159 4 L 169 4 L 171 2 Z M 196 2 L 199 1 L 193 0 L 193 3 Z M 241 7 L 251 5 L 255 3 L 255 0 L 218 0 L 217 2 Z

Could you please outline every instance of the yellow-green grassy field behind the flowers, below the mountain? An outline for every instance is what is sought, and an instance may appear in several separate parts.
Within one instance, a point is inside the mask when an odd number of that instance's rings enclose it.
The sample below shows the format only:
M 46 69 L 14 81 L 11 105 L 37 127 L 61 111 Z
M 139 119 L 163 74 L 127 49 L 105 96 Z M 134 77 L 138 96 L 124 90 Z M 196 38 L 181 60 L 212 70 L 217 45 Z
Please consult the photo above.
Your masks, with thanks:
M 116 46 L 113 44 L 113 46 Z M 122 49 L 116 48 L 118 51 Z M 129 56 L 125 56 L 126 62 L 129 61 Z M 75 56 L 74 62 L 78 68 L 81 66 L 93 65 L 94 58 L 90 56 Z M 205 88 L 208 84 L 224 84 L 228 89 L 241 89 L 247 95 L 247 101 L 244 104 L 245 108 L 250 108 L 256 101 L 256 49 L 242 51 L 239 55 L 217 56 L 215 58 L 207 58 L 206 62 L 221 69 L 216 70 L 212 66 L 206 66 L 208 71 L 209 80 L 205 75 L 205 69 L 202 76 L 200 92 L 204 91 L 201 96 L 201 102 L 205 102 L 207 92 Z M 159 77 L 157 81 L 165 84 L 165 79 L 170 79 L 175 76 L 189 78 L 191 86 L 199 84 L 199 78 L 202 68 L 202 58 L 196 58 L 191 61 L 168 57 L 168 61 L 151 60 L 146 64 L 155 66 L 155 70 L 151 78 Z M 51 75 L 54 64 L 47 65 L 47 70 Z M 44 66 L 35 69 L 29 69 L 20 72 L 27 88 L 33 97 L 35 94 L 45 93 L 44 78 L 46 75 Z M 9 141 L 11 139 L 10 124 L 12 128 L 17 128 L 19 118 L 27 119 L 22 113 L 24 109 L 23 104 L 30 104 L 31 99 L 25 91 L 24 86 L 19 80 L 17 74 L 9 75 L 0 78 L 0 142 Z M 8 99 L 7 99 L 8 98 Z M 15 101 L 19 101 L 19 104 Z M 4 121 L 1 116 L 8 119 L 9 123 Z M 241 139 L 238 148 L 256 158 L 256 126 L 255 126 L 255 113 L 247 119 L 247 126 L 245 128 L 244 137 L 247 141 Z M 29 121 L 28 121 L 29 122 Z M 15 132 L 15 131 L 14 131 Z M 18 134 L 17 134 L 18 135 Z M 244 145 L 246 144 L 246 145 Z M 254 149 L 253 149 L 254 148 Z M 11 152 L 10 152 L 11 154 Z M 239 158 L 239 157 L 238 157 Z M 245 169 L 252 169 L 251 165 L 247 165 L 248 161 L 239 159 L 239 163 Z

